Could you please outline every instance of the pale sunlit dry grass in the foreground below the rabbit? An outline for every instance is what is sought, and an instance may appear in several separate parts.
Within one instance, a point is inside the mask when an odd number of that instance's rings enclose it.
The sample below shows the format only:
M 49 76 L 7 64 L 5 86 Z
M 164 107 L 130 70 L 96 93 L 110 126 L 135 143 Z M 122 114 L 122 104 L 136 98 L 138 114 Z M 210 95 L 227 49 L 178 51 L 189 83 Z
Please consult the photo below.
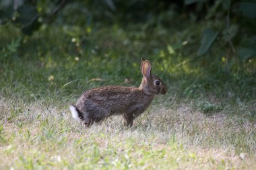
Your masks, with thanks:
M 255 126 L 236 116 L 153 106 L 131 129 L 120 117 L 85 129 L 63 103 L 15 105 L 1 105 L 10 113 L 1 125 L 1 169 L 255 168 Z

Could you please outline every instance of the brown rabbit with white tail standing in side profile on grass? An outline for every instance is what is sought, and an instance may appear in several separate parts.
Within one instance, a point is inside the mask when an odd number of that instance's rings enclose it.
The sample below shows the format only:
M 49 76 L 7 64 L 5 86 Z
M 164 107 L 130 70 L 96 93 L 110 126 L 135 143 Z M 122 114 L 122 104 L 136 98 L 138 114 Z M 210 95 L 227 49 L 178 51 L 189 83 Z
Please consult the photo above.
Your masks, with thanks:
M 141 58 L 141 73 L 139 87 L 109 85 L 86 91 L 76 105 L 69 106 L 72 117 L 90 126 L 108 116 L 123 114 L 123 124 L 133 126 L 133 120 L 148 108 L 154 96 L 167 91 L 164 83 L 151 75 L 149 60 Z

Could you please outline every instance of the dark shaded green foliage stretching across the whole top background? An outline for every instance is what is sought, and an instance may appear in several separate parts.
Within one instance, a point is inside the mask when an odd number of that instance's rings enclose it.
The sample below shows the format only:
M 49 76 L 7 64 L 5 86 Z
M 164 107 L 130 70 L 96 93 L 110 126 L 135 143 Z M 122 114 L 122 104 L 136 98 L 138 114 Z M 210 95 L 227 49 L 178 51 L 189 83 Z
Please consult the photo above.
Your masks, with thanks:
M 179 10 L 178 10 L 179 9 Z M 195 52 L 201 56 L 201 62 L 211 64 L 216 60 L 226 58 L 226 71 L 244 69 L 251 58 L 255 57 L 254 48 L 241 40 L 255 36 L 255 2 L 254 1 L 205 1 L 186 0 L 184 2 L 169 1 L 2 1 L 0 3 L 0 24 L 14 24 L 26 35 L 33 32 L 47 30 L 51 24 L 62 26 L 69 36 L 75 38 L 76 44 L 87 41 L 88 34 L 104 25 L 128 26 L 131 23 L 141 23 L 141 30 L 154 30 L 157 28 L 185 28 L 179 20 L 191 22 L 204 22 L 198 28 L 201 34 L 191 38 L 197 46 Z M 179 17 L 178 17 L 179 16 Z M 175 19 L 174 19 L 175 18 Z M 179 19 L 176 19 L 179 18 Z M 204 20 L 203 20 L 204 19 Z M 84 33 L 77 34 L 77 29 L 84 29 Z M 218 34 L 219 33 L 219 34 Z M 241 33 L 241 34 L 240 34 Z M 141 36 L 142 34 L 137 34 Z M 193 37 L 193 38 L 192 38 Z M 201 44 L 199 38 L 201 37 Z M 143 36 L 141 36 L 143 38 Z M 129 42 L 129 41 L 128 41 Z M 183 41 L 189 42 L 189 41 Z M 182 44 L 183 42 L 179 42 Z M 167 42 L 168 44 L 168 42 Z M 164 44 L 166 46 L 166 44 Z M 221 55 L 209 60 L 212 46 L 219 46 Z M 168 51 L 173 44 L 168 44 Z M 78 47 L 81 52 L 82 46 Z M 173 50 L 173 51 L 172 51 Z M 174 52 L 174 53 L 173 53 Z M 8 52 L 5 50 L 5 57 Z

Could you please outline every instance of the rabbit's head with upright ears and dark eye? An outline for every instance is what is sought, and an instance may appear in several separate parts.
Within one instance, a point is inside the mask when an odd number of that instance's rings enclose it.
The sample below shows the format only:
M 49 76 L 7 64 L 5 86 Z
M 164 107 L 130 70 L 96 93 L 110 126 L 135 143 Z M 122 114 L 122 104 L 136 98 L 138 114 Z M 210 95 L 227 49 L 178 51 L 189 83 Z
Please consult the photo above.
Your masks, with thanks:
M 151 63 L 149 60 L 141 58 L 140 69 L 143 78 L 139 89 L 142 89 L 148 95 L 165 94 L 167 92 L 164 82 L 151 74 Z

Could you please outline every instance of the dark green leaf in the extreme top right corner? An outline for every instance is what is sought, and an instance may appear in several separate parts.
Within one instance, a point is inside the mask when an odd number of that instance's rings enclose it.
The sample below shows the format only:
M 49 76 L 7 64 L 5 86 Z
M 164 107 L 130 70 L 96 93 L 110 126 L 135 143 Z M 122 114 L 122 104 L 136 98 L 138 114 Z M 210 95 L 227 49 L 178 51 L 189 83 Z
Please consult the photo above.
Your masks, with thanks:
M 241 11 L 245 17 L 256 18 L 256 3 L 241 2 L 239 3 L 239 11 Z

